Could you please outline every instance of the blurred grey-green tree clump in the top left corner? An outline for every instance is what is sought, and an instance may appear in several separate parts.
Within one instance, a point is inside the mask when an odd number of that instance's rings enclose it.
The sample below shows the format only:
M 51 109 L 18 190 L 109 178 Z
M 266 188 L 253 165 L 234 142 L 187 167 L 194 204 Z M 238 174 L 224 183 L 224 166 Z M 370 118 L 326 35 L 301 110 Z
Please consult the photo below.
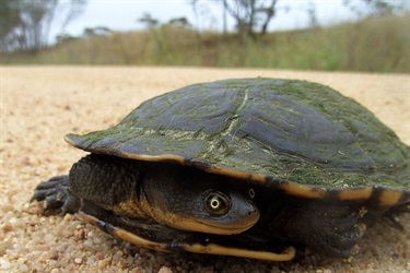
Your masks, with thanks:
M 61 36 L 67 24 L 81 13 L 85 2 L 72 0 L 59 4 L 59 0 L 1 0 L 1 50 L 37 51 L 46 47 L 55 14 L 62 19 Z

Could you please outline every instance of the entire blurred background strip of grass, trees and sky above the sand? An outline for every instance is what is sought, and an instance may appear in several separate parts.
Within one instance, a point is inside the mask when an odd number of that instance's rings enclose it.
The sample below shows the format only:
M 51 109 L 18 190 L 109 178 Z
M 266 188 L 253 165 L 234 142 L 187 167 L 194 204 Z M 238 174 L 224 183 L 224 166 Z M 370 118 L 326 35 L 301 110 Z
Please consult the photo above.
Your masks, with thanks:
M 410 72 L 410 0 L 0 0 L 0 63 Z

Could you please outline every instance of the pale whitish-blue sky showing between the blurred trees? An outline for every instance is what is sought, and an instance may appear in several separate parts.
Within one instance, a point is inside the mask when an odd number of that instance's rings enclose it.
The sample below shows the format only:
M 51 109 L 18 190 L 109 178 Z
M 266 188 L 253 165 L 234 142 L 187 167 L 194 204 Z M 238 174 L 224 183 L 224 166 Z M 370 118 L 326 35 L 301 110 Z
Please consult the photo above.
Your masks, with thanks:
M 66 4 L 71 0 L 63 0 Z M 319 25 L 335 24 L 354 20 L 355 14 L 342 4 L 342 0 L 279 0 L 277 16 L 271 21 L 269 31 L 303 28 L 309 25 L 306 8 L 315 4 Z M 198 29 L 222 31 L 222 4 L 218 0 L 199 0 L 197 14 L 189 0 L 87 0 L 83 12 L 67 27 L 66 33 L 81 36 L 85 27 L 105 26 L 112 31 L 142 29 L 138 22 L 143 13 L 150 13 L 161 23 L 171 19 L 186 16 Z M 285 11 L 286 7 L 289 12 Z M 234 29 L 234 21 L 227 16 L 229 29 Z M 54 37 L 59 27 L 58 20 L 51 29 Z

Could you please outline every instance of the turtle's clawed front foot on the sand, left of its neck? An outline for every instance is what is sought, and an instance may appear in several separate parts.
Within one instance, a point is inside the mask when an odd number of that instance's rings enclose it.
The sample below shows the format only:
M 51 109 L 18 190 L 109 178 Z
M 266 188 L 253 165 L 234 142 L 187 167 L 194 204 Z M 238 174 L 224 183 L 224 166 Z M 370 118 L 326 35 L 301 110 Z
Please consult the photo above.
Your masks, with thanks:
M 51 177 L 40 182 L 31 201 L 44 201 L 45 214 L 75 213 L 80 209 L 80 200 L 70 193 L 69 176 Z

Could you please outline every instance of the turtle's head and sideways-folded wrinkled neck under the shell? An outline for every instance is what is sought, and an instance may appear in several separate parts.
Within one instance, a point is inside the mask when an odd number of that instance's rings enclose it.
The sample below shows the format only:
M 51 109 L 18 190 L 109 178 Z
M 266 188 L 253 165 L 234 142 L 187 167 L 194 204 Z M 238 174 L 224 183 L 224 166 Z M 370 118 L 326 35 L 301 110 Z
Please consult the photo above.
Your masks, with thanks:
M 92 154 L 74 164 L 65 178 L 74 197 L 67 206 L 75 212 L 80 201 L 86 201 L 117 215 L 209 234 L 249 229 L 259 219 L 249 189 L 230 189 L 214 177 L 181 166 L 159 169 L 154 163 Z

